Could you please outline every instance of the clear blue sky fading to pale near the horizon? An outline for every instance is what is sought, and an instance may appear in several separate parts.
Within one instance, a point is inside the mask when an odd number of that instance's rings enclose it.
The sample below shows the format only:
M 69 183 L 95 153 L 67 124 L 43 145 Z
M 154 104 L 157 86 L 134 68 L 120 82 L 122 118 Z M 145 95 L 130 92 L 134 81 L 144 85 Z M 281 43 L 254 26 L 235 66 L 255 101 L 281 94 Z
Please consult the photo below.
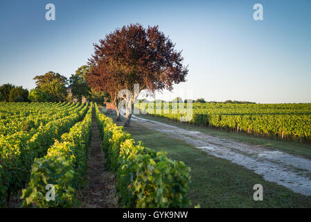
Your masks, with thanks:
M 55 21 L 46 20 L 47 3 Z M 254 4 L 263 6 L 256 21 Z M 0 85 L 28 89 L 85 65 L 93 43 L 124 25 L 158 25 L 182 51 L 186 83 L 156 99 L 311 102 L 311 1 L 0 0 Z

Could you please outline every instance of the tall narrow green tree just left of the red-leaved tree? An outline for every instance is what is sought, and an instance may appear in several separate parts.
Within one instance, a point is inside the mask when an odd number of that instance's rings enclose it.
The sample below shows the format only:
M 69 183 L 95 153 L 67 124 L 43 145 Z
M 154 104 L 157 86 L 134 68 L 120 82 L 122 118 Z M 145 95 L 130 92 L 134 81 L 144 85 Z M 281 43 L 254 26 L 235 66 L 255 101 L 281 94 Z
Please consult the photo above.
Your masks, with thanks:
M 71 92 L 73 98 L 78 99 L 78 101 L 82 100 L 82 96 L 89 99 L 89 91 L 91 90 L 87 85 L 87 81 L 85 80 L 86 74 L 89 72 L 89 66 L 82 65 L 82 67 L 78 68 L 75 71 L 75 74 L 72 74 L 69 78 L 69 83 L 71 85 Z

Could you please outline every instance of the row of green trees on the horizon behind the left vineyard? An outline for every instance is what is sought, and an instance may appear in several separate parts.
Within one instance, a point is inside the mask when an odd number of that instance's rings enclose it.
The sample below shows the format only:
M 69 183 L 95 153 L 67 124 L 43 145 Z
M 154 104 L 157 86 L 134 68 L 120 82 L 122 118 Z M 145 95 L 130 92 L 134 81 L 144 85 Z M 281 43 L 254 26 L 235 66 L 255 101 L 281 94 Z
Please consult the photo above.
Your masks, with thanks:
M 96 103 L 109 101 L 109 94 L 91 89 L 85 80 L 85 74 L 89 66 L 83 65 L 72 74 L 69 79 L 53 71 L 44 75 L 35 76 L 36 87 L 28 92 L 28 89 L 16 87 L 12 84 L 4 84 L 0 87 L 0 101 L 7 102 L 56 102 L 56 101 L 82 101 L 82 98 Z M 66 85 L 71 92 L 67 92 Z

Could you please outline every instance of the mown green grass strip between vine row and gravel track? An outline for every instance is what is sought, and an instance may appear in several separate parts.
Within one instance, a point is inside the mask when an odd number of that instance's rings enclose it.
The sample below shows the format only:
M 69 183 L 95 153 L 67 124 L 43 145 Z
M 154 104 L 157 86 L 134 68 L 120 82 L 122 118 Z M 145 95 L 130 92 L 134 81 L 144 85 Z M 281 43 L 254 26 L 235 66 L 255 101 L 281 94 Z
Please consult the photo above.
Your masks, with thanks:
M 186 124 L 177 124 L 187 127 Z M 145 128 L 135 121 L 126 130 L 136 141 L 141 140 L 145 146 L 156 151 L 166 151 L 173 160 L 183 161 L 191 168 L 192 182 L 188 195 L 193 206 L 311 207 L 311 197 L 296 194 L 274 182 L 267 182 L 262 176 L 245 167 L 208 155 L 179 139 L 172 139 L 156 130 Z M 253 199 L 253 187 L 256 184 L 263 185 L 263 201 Z

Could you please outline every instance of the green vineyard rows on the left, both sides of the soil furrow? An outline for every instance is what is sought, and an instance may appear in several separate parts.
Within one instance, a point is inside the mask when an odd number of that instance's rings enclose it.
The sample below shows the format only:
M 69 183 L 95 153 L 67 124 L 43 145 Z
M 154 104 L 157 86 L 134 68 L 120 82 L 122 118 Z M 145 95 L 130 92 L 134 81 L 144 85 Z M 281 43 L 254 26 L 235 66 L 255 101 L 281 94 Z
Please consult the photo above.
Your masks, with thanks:
M 136 143 L 123 127 L 81 103 L 1 103 L 0 206 L 22 194 L 23 207 L 78 207 L 86 186 L 92 118 L 120 207 L 187 207 L 190 169 Z M 104 166 L 103 166 L 104 167 Z M 53 185 L 55 200 L 46 198 Z

